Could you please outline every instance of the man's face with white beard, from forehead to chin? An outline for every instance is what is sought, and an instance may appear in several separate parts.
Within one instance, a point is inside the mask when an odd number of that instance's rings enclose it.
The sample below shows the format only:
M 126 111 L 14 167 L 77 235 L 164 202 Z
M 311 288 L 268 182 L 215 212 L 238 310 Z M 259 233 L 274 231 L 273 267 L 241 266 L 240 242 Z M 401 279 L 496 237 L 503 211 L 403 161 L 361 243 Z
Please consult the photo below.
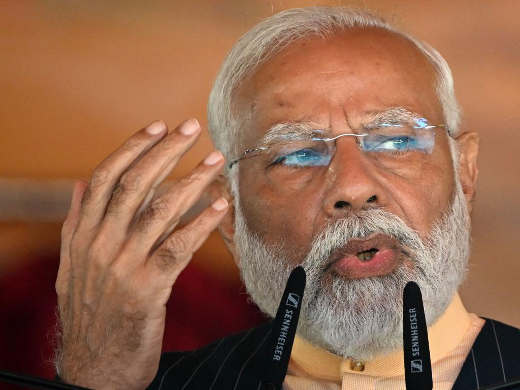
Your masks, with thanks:
M 357 133 L 367 118 L 396 107 L 441 124 L 435 84 L 431 64 L 391 33 L 357 29 L 302 41 L 243 85 L 239 149 L 255 148 L 280 123 L 315 123 L 331 137 Z M 400 344 L 407 281 L 418 282 L 426 318 L 436 320 L 465 274 L 476 179 L 476 140 L 457 141 L 459 174 L 448 137 L 438 127 L 431 152 L 393 154 L 390 165 L 363 153 L 350 136 L 336 140 L 328 165 L 275 166 L 260 155 L 240 160 L 230 249 L 253 301 L 274 316 L 290 270 L 303 265 L 298 332 L 360 359 Z

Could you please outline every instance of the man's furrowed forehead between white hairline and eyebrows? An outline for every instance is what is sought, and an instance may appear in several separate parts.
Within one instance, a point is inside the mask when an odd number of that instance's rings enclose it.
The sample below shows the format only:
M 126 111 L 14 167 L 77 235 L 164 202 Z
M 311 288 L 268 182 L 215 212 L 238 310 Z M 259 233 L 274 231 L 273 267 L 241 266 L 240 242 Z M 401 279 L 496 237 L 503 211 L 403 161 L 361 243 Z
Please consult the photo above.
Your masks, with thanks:
M 442 121 L 435 70 L 406 38 L 353 29 L 300 40 L 264 62 L 236 96 L 251 145 L 276 123 L 316 121 L 341 132 L 367 113 L 401 106 Z

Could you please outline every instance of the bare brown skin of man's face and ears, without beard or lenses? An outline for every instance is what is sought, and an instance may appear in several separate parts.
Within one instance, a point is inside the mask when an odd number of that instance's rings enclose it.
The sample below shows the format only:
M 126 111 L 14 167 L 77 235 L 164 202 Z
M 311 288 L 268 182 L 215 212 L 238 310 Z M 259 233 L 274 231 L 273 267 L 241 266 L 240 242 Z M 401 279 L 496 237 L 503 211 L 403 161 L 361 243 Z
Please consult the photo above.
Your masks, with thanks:
M 405 38 L 379 29 L 355 29 L 327 41 L 297 42 L 262 64 L 237 95 L 248 109 L 239 150 L 254 145 L 273 124 L 317 121 L 332 134 L 351 132 L 363 115 L 401 106 L 431 124 L 443 123 L 435 94 L 435 72 L 427 59 Z M 336 143 L 328 170 L 308 183 L 289 182 L 280 188 L 259 172 L 258 160 L 239 162 L 240 202 L 248 226 L 268 244 L 284 237 L 286 249 L 300 262 L 325 224 L 367 204 L 383 207 L 402 218 L 424 237 L 447 209 L 454 189 L 448 134 L 436 131 L 436 145 L 420 170 L 408 167 L 389 173 L 359 150 L 354 137 Z M 464 133 L 460 179 L 467 202 L 477 179 L 478 137 Z M 347 202 L 337 207 L 337 202 Z M 343 203 L 345 204 L 345 203 Z M 233 210 L 220 230 L 239 263 L 233 237 Z

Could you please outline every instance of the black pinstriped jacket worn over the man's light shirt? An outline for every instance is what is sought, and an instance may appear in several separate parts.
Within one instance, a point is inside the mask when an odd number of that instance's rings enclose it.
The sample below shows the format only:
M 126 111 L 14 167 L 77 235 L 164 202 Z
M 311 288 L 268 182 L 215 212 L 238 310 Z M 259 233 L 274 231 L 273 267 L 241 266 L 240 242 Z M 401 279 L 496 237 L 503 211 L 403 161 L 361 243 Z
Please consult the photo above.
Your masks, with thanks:
M 191 352 L 164 353 L 147 390 L 256 390 L 270 328 L 268 322 Z M 517 378 L 520 329 L 486 318 L 452 390 L 477 390 Z

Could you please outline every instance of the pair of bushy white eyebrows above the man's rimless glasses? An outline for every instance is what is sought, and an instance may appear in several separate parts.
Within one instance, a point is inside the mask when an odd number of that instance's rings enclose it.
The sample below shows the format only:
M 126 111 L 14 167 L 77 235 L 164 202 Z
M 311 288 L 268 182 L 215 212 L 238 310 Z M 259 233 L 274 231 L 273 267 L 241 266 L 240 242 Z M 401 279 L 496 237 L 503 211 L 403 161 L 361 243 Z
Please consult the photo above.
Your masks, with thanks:
M 382 124 L 399 124 L 417 119 L 421 115 L 413 113 L 404 107 L 395 106 L 385 110 L 369 112 L 355 123 L 354 130 L 369 129 Z M 259 140 L 257 148 L 268 148 L 280 140 L 301 139 L 316 136 L 322 133 L 330 133 L 330 126 L 323 126 L 317 121 L 283 122 L 272 125 L 264 136 Z

